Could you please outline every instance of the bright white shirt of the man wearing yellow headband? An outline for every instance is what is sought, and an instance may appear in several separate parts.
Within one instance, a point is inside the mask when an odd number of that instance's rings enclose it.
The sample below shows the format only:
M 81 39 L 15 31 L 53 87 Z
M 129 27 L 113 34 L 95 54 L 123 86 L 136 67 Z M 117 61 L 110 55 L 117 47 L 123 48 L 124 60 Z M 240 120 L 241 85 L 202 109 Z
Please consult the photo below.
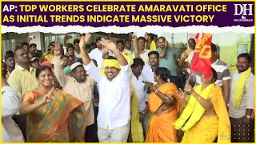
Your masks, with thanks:
M 111 82 L 102 76 L 94 62 L 85 66 L 87 74 L 98 82 L 98 126 L 113 130 L 130 121 L 130 76 L 129 64 L 121 66 L 121 72 Z

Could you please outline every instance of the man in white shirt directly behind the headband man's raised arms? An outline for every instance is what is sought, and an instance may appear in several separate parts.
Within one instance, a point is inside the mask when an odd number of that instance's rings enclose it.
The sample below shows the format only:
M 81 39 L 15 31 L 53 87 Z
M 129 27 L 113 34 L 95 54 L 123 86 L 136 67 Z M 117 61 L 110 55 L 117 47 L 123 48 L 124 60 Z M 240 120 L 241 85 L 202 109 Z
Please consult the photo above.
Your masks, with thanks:
M 102 63 L 103 63 L 103 56 L 102 56 L 102 43 L 101 43 L 101 38 L 98 37 L 96 38 L 96 48 L 94 50 L 90 51 L 89 57 L 90 59 L 95 59 L 98 63 L 98 69 L 102 68 Z M 112 52 L 109 51 L 109 55 L 113 55 Z

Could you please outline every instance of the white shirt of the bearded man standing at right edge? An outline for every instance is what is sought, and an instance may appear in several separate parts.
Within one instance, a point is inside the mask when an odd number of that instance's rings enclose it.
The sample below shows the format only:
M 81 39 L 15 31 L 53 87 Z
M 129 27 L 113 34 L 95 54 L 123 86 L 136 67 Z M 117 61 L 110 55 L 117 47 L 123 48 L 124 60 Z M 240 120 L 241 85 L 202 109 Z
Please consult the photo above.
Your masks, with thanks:
M 230 106 L 229 106 L 229 115 L 231 118 L 242 118 L 246 115 L 246 109 L 254 110 L 254 74 L 250 73 L 249 77 L 247 78 L 246 85 L 244 86 L 243 90 L 243 97 L 240 103 L 239 108 L 237 109 L 234 105 L 234 90 L 235 85 L 238 82 L 242 73 L 238 73 L 234 71 L 231 73 L 231 82 L 230 82 Z M 254 115 L 254 112 L 251 116 Z

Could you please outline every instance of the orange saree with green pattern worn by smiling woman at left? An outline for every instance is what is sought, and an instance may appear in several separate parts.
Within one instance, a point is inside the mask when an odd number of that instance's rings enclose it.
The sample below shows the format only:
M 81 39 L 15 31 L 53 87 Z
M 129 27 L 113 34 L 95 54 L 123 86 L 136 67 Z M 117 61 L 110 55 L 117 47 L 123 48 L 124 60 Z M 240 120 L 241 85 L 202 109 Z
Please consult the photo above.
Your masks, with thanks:
M 22 102 L 42 102 L 43 96 L 31 90 Z M 85 142 L 86 118 L 83 102 L 54 91 L 54 100 L 32 111 L 26 117 L 27 142 Z

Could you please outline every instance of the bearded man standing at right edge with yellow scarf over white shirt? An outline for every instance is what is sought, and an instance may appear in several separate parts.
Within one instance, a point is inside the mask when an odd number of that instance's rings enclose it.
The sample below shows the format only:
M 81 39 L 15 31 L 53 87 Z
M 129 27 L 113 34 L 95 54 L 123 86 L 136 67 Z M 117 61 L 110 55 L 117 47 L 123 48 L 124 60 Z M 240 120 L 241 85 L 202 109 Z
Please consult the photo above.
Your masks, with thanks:
M 231 142 L 250 142 L 254 116 L 254 74 L 251 73 L 250 62 L 250 54 L 239 54 L 237 69 L 230 74 Z

